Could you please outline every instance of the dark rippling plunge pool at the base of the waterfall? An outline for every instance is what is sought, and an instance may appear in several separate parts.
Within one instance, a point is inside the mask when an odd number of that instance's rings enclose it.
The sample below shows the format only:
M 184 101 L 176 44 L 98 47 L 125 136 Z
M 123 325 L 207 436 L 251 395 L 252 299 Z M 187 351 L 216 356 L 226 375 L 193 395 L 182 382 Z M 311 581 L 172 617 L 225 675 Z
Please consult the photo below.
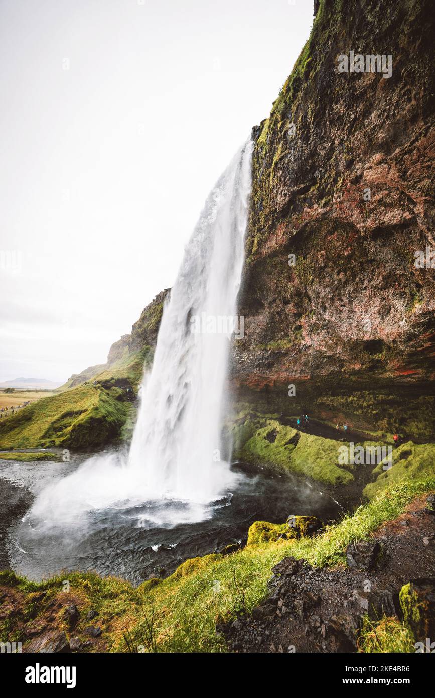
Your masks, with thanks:
M 64 466 L 0 461 L 0 501 L 8 499 L 11 488 L 16 493 L 17 486 L 29 496 L 29 491 L 40 489 L 51 477 L 61 476 Z M 194 520 L 196 512 L 188 503 L 169 500 L 134 507 L 126 503 L 92 512 L 83 524 L 77 521 L 74 526 L 43 530 L 33 527 L 29 514 L 23 517 L 21 503 L 15 521 L 13 509 L 9 511 L 8 563 L 35 580 L 60 572 L 95 570 L 139 584 L 171 574 L 188 558 L 219 551 L 233 542 L 244 544 L 253 521 L 282 523 L 289 514 L 314 514 L 330 521 L 340 512 L 334 500 L 296 478 L 242 464 L 233 468 L 241 475 L 238 486 L 207 505 L 201 521 Z

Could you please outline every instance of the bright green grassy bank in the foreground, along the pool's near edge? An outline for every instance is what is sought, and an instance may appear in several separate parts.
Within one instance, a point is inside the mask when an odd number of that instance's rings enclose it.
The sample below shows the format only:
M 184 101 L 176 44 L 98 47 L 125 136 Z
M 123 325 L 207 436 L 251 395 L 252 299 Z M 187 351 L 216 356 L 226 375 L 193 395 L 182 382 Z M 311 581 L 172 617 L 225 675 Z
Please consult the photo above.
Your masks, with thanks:
M 70 591 L 82 616 L 91 608 L 98 610 L 98 625 L 110 651 L 137 651 L 143 646 L 145 651 L 224 652 L 216 623 L 241 611 L 249 613 L 264 598 L 273 565 L 289 555 L 305 558 L 312 565 L 345 565 L 344 549 L 350 542 L 369 536 L 383 521 L 402 513 L 415 496 L 434 488 L 434 477 L 403 482 L 360 506 L 353 516 L 326 527 L 317 537 L 252 544 L 229 556 L 194 558 L 171 577 L 146 581 L 136 589 L 114 577 L 102 579 L 91 572 L 75 572 L 68 574 Z M 0 584 L 29 595 L 33 618 L 43 614 L 54 597 L 66 603 L 63 579 L 65 575 L 34 584 L 12 572 L 0 573 Z M 47 591 L 43 600 L 31 596 L 40 590 Z M 7 627 L 3 624 L 0 635 L 19 640 L 17 621 L 13 616 Z M 61 618 L 55 623 L 68 632 Z M 86 639 L 85 625 L 86 621 L 73 634 Z

